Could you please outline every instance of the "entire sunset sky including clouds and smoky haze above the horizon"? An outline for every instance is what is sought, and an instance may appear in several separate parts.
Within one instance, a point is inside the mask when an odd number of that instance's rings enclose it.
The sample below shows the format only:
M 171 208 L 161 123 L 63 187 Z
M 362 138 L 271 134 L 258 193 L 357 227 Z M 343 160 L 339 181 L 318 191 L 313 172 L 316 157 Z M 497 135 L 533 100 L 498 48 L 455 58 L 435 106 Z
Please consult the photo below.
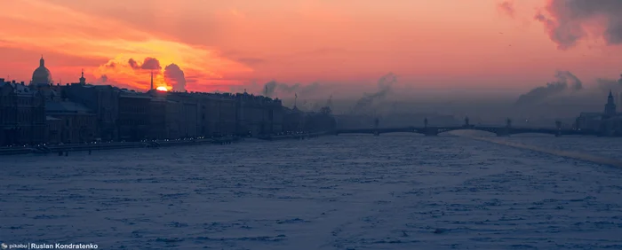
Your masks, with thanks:
M 29 81 L 43 54 L 60 83 L 84 68 L 88 82 L 147 90 L 154 72 L 170 90 L 247 90 L 287 105 L 298 93 L 308 108 L 332 95 L 343 113 L 363 93 L 380 93 L 377 106 L 494 109 L 490 120 L 600 111 L 610 89 L 622 91 L 618 0 L 13 0 L 0 8 L 0 77 L 17 81 Z M 387 75 L 395 81 L 379 80 Z M 542 113 L 542 105 L 554 108 Z

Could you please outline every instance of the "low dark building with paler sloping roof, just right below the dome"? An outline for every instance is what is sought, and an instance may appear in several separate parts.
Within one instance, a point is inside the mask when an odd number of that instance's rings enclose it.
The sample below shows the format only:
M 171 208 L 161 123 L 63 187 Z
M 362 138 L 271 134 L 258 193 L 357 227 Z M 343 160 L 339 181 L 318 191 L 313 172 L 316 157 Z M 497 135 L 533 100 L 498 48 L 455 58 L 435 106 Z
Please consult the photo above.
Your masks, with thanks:
M 71 101 L 45 102 L 48 142 L 84 144 L 95 140 L 97 115 Z

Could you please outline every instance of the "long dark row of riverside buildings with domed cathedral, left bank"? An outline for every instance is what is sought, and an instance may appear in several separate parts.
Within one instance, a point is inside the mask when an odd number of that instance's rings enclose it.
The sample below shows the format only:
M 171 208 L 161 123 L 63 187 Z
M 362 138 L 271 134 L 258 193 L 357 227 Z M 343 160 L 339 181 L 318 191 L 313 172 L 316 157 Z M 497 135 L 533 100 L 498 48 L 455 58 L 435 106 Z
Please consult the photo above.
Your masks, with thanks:
M 330 108 L 305 113 L 246 92 L 167 92 L 153 82 L 140 92 L 87 84 L 84 71 L 79 82 L 54 84 L 43 57 L 28 86 L 0 79 L 0 111 L 0 145 L 257 137 L 336 124 Z

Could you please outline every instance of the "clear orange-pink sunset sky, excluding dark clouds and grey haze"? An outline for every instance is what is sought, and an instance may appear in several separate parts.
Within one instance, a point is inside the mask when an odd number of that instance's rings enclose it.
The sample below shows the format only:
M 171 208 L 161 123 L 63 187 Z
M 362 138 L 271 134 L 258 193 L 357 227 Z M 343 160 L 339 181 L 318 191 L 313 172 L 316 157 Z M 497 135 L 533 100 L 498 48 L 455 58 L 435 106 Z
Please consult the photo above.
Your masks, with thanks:
M 84 68 L 87 82 L 142 90 L 150 70 L 129 59 L 157 59 L 157 86 L 171 88 L 163 68 L 174 63 L 187 90 L 207 91 L 271 80 L 372 89 L 389 72 L 415 89 L 527 90 L 558 69 L 617 79 L 616 46 L 557 49 L 533 18 L 545 2 L 508 2 L 509 13 L 495 0 L 2 1 L 0 77 L 28 82 L 43 54 L 54 81 Z

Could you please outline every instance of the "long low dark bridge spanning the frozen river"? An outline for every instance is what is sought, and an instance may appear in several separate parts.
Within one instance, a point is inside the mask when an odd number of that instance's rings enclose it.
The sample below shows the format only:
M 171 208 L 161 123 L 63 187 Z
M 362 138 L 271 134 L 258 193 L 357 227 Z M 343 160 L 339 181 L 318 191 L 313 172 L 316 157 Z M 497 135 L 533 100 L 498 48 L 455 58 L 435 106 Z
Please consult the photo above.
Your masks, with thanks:
M 403 127 L 403 128 L 379 128 L 379 119 L 374 122 L 374 128 L 370 129 L 337 129 L 336 135 L 339 134 L 372 134 L 379 136 L 386 133 L 418 133 L 426 136 L 438 136 L 441 133 L 454 131 L 454 130 L 480 130 L 496 134 L 498 137 L 509 137 L 516 134 L 549 134 L 555 137 L 561 136 L 599 136 L 597 131 L 586 129 L 562 129 L 562 122 L 556 121 L 555 128 L 514 128 L 512 127 L 512 121 L 507 119 L 506 126 L 479 126 L 471 125 L 468 123 L 468 117 L 465 119 L 465 124 L 462 126 L 448 126 L 448 127 L 428 127 L 427 119 L 424 120 L 424 127 Z

